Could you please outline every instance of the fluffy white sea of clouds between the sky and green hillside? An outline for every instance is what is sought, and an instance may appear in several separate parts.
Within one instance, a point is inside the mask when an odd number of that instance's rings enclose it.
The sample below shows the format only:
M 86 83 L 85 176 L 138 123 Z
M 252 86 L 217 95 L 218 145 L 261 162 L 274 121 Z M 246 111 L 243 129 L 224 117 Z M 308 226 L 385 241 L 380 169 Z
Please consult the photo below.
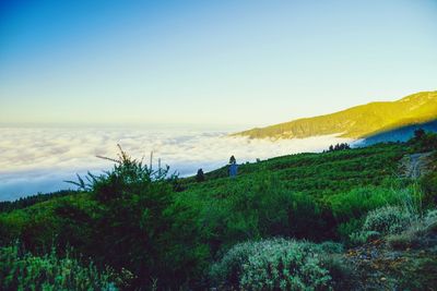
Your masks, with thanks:
M 0 201 L 48 193 L 73 185 L 75 174 L 98 174 L 113 167 L 117 144 L 132 157 L 149 162 L 150 153 L 181 177 L 199 168 L 210 171 L 226 165 L 234 155 L 237 162 L 253 162 L 303 151 L 321 151 L 331 144 L 351 142 L 333 135 L 303 140 L 270 141 L 229 137 L 224 131 L 147 129 L 24 129 L 0 128 Z

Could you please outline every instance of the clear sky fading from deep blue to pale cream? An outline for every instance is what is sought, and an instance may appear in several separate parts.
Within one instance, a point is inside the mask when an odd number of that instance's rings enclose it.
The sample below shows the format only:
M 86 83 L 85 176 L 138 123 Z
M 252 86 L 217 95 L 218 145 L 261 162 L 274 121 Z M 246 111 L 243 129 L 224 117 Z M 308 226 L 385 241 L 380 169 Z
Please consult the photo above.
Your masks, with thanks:
M 0 123 L 263 125 L 437 89 L 437 1 L 1 1 Z

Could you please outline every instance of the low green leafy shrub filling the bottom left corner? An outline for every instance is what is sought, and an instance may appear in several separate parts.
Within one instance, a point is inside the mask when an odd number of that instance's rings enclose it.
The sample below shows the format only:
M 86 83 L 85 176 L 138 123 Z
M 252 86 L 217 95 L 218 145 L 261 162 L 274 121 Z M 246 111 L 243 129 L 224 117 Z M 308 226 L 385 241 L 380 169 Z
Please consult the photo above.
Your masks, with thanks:
M 109 275 L 98 272 L 93 264 L 58 258 L 55 252 L 34 256 L 21 254 L 17 246 L 0 248 L 1 290 L 117 290 Z

